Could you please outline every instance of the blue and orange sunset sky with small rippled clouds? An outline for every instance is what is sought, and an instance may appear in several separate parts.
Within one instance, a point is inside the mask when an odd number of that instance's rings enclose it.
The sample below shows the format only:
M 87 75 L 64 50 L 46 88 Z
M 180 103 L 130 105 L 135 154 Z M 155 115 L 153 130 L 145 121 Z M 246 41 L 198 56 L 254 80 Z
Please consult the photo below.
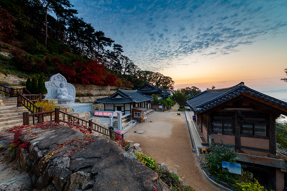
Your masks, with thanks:
M 174 88 L 287 89 L 287 1 L 70 0 L 78 17 Z M 286 95 L 287 99 L 287 95 Z

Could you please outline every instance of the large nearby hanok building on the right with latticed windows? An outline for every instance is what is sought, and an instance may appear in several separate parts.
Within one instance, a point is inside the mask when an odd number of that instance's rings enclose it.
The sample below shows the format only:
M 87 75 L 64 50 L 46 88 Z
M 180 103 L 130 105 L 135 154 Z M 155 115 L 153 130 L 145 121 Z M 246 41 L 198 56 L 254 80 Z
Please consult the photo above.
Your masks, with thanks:
M 187 100 L 204 139 L 232 143 L 238 163 L 247 167 L 267 190 L 284 190 L 286 160 L 276 155 L 276 122 L 287 115 L 287 103 L 257 92 L 244 82 L 207 89 Z

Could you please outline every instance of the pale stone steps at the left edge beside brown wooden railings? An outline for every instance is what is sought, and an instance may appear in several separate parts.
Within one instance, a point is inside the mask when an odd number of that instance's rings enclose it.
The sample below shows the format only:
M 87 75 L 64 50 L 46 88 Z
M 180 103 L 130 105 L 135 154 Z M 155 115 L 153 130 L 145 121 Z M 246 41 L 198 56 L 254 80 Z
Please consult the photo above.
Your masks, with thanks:
M 28 111 L 25 107 L 16 107 L 17 98 L 9 98 L 0 94 L 0 99 L 5 106 L 0 106 L 0 131 L 23 125 L 23 112 Z

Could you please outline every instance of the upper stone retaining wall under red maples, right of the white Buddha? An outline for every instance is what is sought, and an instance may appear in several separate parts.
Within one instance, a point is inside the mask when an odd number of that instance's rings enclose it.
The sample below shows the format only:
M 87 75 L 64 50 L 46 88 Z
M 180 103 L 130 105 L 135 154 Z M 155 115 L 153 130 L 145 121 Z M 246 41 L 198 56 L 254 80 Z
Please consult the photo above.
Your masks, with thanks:
M 75 84 L 75 83 L 71 84 L 73 84 L 77 93 L 93 94 L 97 96 L 108 96 L 115 93 L 119 89 L 119 87 L 116 86 L 98 86 L 98 85 Z

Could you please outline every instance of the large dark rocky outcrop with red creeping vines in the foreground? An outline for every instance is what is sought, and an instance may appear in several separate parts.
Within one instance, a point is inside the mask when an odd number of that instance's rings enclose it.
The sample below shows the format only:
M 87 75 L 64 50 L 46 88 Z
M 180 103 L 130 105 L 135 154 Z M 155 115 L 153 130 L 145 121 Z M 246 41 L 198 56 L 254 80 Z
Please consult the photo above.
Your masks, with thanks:
M 18 153 L 6 152 L 7 161 L 16 157 L 19 167 L 33 175 L 31 190 L 34 185 L 43 191 L 169 190 L 156 172 L 109 138 L 85 135 L 55 123 L 21 126 L 1 134 L 0 144 L 6 149 L 12 138 L 18 144 Z M 15 184 L 6 182 L 0 188 L 17 190 L 11 186 Z

